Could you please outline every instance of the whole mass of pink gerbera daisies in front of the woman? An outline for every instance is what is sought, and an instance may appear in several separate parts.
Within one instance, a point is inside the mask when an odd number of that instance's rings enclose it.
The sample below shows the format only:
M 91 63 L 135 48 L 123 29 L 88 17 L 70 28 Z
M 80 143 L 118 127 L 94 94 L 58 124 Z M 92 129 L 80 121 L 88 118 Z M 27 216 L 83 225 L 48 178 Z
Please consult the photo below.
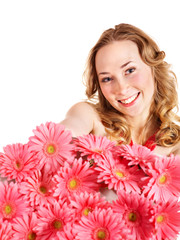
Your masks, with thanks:
M 174 240 L 180 157 L 64 126 L 38 126 L 0 154 L 1 240 Z

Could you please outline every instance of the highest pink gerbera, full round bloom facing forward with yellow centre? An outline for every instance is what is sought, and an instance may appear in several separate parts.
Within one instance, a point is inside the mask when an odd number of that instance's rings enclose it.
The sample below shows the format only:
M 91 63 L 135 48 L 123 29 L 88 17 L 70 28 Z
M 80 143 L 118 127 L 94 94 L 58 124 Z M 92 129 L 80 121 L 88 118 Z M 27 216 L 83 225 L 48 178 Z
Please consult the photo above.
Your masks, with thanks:
M 29 138 L 29 146 L 31 151 L 37 153 L 41 166 L 56 172 L 64 165 L 64 161 L 72 161 L 72 135 L 63 125 L 47 122 L 33 132 L 34 136 Z

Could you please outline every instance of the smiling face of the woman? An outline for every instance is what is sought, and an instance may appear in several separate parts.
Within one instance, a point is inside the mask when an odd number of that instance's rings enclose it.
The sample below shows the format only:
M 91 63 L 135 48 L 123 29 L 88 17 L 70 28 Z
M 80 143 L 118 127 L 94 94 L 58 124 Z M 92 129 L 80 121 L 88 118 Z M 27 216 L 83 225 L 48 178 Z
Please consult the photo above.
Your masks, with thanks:
M 137 45 L 114 41 L 96 54 L 96 71 L 107 101 L 125 117 L 147 118 L 154 94 L 154 78 Z

